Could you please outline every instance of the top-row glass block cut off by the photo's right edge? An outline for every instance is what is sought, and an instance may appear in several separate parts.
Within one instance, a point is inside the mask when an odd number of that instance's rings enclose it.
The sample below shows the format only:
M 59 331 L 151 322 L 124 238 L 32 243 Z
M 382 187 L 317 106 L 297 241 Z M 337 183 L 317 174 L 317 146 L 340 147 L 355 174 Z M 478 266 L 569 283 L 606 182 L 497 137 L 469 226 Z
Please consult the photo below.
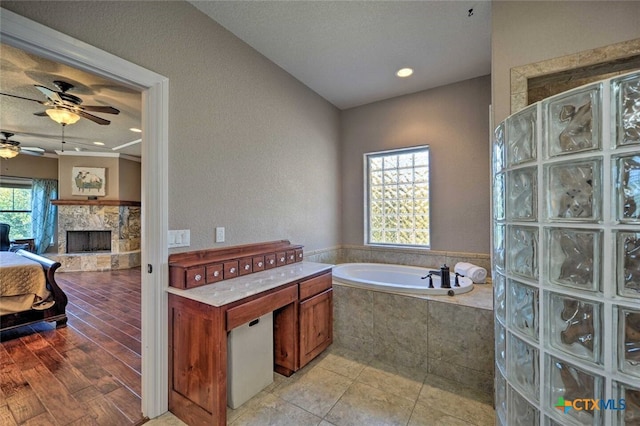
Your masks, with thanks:
M 615 99 L 616 142 L 618 146 L 640 143 L 640 74 L 611 81 Z

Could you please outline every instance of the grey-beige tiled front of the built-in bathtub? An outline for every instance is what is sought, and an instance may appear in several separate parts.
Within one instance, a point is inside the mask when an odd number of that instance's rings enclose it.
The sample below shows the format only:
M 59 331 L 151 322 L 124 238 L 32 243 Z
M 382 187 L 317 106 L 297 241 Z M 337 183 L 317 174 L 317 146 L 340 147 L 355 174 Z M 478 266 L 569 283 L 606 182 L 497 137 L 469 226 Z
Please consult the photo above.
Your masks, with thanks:
M 493 391 L 492 286 L 459 296 L 414 297 L 334 281 L 336 345 L 398 367 Z

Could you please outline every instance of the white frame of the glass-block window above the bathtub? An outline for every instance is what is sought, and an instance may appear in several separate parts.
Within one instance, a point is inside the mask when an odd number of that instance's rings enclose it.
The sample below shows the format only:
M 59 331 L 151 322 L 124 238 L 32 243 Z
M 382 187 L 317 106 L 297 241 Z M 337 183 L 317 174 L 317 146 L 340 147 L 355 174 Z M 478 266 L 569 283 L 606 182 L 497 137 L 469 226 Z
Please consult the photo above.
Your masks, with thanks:
M 429 243 L 428 244 L 401 244 L 401 243 L 378 243 L 371 242 L 370 236 L 370 218 L 371 218 L 371 182 L 370 182 L 370 170 L 369 170 L 369 159 L 375 157 L 385 157 L 388 155 L 403 155 L 408 153 L 422 152 L 426 151 L 427 153 L 427 203 L 429 206 L 429 211 L 427 213 L 427 231 L 429 232 Z M 363 169 L 364 169 L 364 244 L 367 246 L 377 246 L 377 247 L 396 247 L 396 248 L 417 248 L 417 249 L 431 249 L 431 149 L 428 144 L 425 145 L 417 145 L 405 148 L 395 148 L 388 149 L 384 151 L 373 151 L 366 152 L 362 156 L 363 158 Z M 415 169 L 415 165 L 413 167 Z M 383 185 L 384 187 L 384 185 Z M 415 232 L 415 228 L 413 228 Z

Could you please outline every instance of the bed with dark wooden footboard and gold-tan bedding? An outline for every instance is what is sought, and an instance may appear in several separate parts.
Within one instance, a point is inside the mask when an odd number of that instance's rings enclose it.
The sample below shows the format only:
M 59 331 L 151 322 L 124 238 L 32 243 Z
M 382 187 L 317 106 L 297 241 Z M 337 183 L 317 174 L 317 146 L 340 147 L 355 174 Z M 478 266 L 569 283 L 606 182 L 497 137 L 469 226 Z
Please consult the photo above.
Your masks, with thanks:
M 0 331 L 40 321 L 67 324 L 67 295 L 55 280 L 59 262 L 26 250 L 0 252 Z

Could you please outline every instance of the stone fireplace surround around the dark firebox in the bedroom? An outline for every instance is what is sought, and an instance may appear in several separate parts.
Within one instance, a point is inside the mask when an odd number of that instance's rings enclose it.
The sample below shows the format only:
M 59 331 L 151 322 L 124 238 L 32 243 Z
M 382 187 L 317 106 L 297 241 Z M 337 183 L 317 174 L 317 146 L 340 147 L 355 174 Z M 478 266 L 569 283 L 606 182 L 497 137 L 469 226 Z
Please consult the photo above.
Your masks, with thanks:
M 121 205 L 54 203 L 58 205 L 58 254 L 47 257 L 60 262 L 61 271 L 109 271 L 140 266 L 139 205 L 117 201 L 111 204 Z M 67 231 L 111 231 L 111 252 L 67 253 Z

